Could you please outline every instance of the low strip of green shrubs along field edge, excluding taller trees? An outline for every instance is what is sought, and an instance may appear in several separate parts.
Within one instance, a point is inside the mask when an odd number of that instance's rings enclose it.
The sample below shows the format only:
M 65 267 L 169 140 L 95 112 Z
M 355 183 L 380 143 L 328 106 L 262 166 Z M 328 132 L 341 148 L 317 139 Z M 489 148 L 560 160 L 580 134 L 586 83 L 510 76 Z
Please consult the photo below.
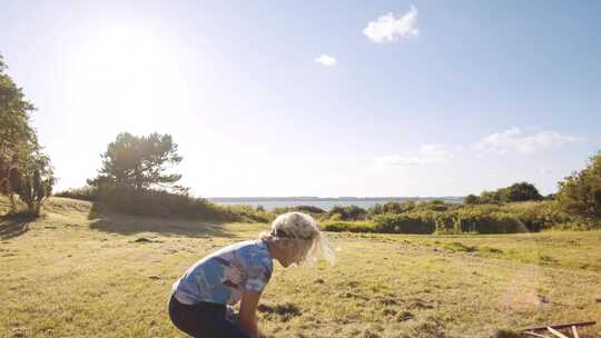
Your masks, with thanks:
M 341 213 L 334 213 L 332 218 L 322 218 L 322 226 L 328 231 L 383 233 L 513 233 L 593 228 L 559 210 L 552 201 L 510 205 L 402 202 L 392 207 L 393 203 L 387 203 L 387 208 L 366 209 L 358 219 L 344 219 Z

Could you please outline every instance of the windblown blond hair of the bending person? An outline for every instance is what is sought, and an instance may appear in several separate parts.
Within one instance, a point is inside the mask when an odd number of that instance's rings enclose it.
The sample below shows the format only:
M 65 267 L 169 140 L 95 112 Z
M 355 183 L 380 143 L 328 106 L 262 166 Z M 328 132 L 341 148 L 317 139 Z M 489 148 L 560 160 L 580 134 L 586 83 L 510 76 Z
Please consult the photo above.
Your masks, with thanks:
M 292 211 L 279 215 L 272 223 L 272 230 L 262 232 L 259 238 L 267 242 L 277 242 L 279 240 L 296 240 L 298 246 L 295 246 L 297 252 L 304 257 L 303 262 L 312 262 L 317 260 L 317 254 L 321 251 L 325 260 L 331 265 L 336 261 L 336 254 L 332 245 L 319 231 L 317 222 L 307 213 Z

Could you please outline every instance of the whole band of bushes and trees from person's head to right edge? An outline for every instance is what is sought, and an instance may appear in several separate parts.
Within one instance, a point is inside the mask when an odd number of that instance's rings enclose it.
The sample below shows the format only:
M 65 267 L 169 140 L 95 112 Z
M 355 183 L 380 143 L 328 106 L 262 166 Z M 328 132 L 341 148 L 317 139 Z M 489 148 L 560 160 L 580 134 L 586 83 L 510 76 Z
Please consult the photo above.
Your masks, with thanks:
M 329 211 L 299 206 L 328 231 L 384 233 L 512 233 L 544 229 L 601 229 L 601 152 L 588 167 L 558 183 L 556 195 L 543 197 L 529 182 L 469 195 L 463 203 L 390 201 L 363 209 L 335 206 Z

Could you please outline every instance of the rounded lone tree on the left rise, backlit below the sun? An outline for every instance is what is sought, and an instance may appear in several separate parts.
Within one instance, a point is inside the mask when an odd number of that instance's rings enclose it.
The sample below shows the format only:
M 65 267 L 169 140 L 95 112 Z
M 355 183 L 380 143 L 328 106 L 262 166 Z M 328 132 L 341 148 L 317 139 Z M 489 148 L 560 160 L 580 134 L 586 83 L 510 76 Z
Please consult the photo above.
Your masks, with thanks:
M 181 161 L 170 135 L 155 132 L 138 137 L 122 132 L 108 145 L 101 157 L 102 167 L 97 178 L 88 180 L 90 186 L 121 186 L 136 190 L 183 189 L 175 185 L 181 175 L 168 172 L 170 167 Z

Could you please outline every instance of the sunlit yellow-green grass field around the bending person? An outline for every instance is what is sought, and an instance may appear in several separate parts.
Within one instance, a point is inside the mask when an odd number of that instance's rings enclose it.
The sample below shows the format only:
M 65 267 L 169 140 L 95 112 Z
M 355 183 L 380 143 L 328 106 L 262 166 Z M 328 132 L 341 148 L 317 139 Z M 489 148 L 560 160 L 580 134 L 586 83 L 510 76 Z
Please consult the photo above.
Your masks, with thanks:
M 184 337 L 167 317 L 171 284 L 268 227 L 60 198 L 45 210 L 0 220 L 0 337 Z M 500 330 L 601 322 L 601 231 L 328 235 L 335 267 L 276 266 L 262 298 L 265 337 L 511 337 Z M 601 326 L 584 332 L 601 337 Z

